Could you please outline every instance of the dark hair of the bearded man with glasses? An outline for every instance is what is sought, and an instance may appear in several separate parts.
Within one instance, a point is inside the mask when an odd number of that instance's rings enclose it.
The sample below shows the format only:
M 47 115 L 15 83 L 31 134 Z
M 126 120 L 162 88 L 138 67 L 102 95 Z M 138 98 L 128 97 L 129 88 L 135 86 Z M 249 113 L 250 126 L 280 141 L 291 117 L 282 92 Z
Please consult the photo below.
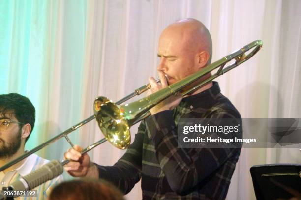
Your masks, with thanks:
M 0 114 L 5 116 L 8 113 L 13 113 L 16 119 L 21 123 L 29 123 L 31 126 L 31 134 L 35 122 L 35 109 L 27 97 L 17 93 L 1 94 Z M 25 142 L 29 137 L 30 135 L 26 138 Z

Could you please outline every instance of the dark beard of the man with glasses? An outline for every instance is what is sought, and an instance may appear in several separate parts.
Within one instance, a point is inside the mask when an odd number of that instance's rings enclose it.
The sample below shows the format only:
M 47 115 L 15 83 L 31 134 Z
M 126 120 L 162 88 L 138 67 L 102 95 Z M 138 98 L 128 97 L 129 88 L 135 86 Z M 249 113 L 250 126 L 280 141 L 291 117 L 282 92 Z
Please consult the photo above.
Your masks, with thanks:
M 3 143 L 0 146 L 0 159 L 7 159 L 12 157 L 17 151 L 19 150 L 21 146 L 21 133 L 22 129 L 20 128 L 20 131 L 17 135 L 17 137 L 13 138 L 10 143 L 7 143 L 6 145 L 5 141 L 0 139 L 1 142 Z

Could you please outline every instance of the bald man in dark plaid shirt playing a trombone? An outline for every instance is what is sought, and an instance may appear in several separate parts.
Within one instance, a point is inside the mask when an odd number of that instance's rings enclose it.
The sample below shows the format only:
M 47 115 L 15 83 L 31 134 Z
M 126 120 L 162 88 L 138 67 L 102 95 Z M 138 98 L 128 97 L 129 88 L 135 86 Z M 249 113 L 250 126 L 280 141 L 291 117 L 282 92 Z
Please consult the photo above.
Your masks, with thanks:
M 149 79 L 152 94 L 211 63 L 212 41 L 208 29 L 195 19 L 184 19 L 163 30 L 158 47 L 161 83 Z M 210 74 L 202 78 L 206 79 Z M 167 77 L 167 79 L 166 79 Z M 196 84 L 196 83 L 194 83 Z M 124 194 L 142 180 L 144 200 L 222 200 L 240 155 L 240 148 L 178 148 L 177 124 L 181 118 L 235 118 L 241 116 L 210 82 L 192 94 L 171 96 L 151 110 L 134 142 L 113 166 L 90 161 L 82 148 L 65 152 L 72 162 L 65 170 L 75 177 L 88 176 L 115 184 Z

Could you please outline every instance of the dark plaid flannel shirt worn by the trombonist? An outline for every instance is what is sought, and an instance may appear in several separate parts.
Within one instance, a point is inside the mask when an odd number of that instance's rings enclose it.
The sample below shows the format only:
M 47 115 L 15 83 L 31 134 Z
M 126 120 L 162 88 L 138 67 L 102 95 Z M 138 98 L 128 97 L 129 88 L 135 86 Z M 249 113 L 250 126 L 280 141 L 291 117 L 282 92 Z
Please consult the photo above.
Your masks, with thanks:
M 178 148 L 180 118 L 241 119 L 241 115 L 213 82 L 210 89 L 183 98 L 173 111 L 141 122 L 118 162 L 98 166 L 99 178 L 125 194 L 142 178 L 144 200 L 225 199 L 241 148 Z

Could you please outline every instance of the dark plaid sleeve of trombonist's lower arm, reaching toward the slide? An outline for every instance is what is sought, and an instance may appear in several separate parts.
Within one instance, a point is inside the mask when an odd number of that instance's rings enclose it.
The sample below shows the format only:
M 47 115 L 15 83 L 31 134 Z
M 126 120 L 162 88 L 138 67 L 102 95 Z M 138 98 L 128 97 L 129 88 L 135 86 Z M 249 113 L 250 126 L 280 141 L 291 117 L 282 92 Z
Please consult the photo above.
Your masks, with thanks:
M 127 194 L 141 178 L 143 138 L 146 126 L 144 121 L 138 127 L 134 142 L 113 166 L 100 166 L 99 178 L 113 183 L 121 192 Z

